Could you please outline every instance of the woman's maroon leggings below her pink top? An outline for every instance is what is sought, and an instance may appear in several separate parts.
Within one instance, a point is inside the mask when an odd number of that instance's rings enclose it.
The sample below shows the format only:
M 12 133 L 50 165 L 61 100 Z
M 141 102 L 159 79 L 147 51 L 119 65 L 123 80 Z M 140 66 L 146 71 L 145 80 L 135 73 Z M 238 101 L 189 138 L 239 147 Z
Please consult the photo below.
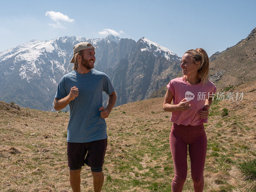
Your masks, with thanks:
M 207 138 L 204 124 L 172 124 L 170 148 L 175 176 L 172 180 L 172 192 L 181 192 L 188 173 L 187 155 L 191 163 L 191 177 L 195 192 L 204 188 L 204 163 L 207 150 Z

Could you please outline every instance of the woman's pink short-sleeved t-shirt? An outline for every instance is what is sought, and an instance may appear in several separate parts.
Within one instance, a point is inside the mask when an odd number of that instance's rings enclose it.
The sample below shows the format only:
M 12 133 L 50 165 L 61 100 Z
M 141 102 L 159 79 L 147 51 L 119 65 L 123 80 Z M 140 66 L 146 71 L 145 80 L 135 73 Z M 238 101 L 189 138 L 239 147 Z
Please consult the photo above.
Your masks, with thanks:
M 208 117 L 202 119 L 199 112 L 203 110 L 205 100 L 208 96 L 212 96 L 217 90 L 216 86 L 207 80 L 207 83 L 203 86 L 202 82 L 199 84 L 191 85 L 183 80 L 182 77 L 172 79 L 167 85 L 167 89 L 173 94 L 173 104 L 179 104 L 181 100 L 187 98 L 190 101 L 192 109 L 186 111 L 174 111 L 170 121 L 176 124 L 182 125 L 199 125 L 207 123 Z M 210 95 L 209 95 L 210 94 Z

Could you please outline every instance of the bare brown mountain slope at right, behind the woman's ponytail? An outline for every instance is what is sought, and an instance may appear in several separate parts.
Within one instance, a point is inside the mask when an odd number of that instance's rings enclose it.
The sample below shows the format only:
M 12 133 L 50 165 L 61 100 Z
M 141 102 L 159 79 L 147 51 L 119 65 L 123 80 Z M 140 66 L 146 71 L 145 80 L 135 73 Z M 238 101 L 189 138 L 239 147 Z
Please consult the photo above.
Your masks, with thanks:
M 256 28 L 248 37 L 210 58 L 210 76 L 222 86 L 256 79 Z

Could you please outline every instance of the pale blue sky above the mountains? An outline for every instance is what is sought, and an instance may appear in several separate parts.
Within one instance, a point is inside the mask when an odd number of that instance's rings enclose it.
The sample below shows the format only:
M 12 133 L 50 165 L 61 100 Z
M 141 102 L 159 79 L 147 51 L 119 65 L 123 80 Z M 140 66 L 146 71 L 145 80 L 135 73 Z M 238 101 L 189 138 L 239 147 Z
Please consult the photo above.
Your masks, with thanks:
M 180 56 L 197 47 L 211 56 L 249 35 L 256 27 L 255 7 L 255 0 L 1 0 L 0 52 L 31 39 L 105 37 L 111 29 L 135 41 L 144 36 Z

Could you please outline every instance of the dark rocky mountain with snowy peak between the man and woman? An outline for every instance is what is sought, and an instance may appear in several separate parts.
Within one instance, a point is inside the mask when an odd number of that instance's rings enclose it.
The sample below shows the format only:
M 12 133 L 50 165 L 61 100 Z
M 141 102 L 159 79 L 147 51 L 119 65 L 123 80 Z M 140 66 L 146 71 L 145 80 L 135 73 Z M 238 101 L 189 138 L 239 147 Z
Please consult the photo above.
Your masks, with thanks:
M 180 70 L 178 55 L 145 39 L 139 39 L 124 59 L 106 71 L 118 95 L 116 106 L 148 99 Z

